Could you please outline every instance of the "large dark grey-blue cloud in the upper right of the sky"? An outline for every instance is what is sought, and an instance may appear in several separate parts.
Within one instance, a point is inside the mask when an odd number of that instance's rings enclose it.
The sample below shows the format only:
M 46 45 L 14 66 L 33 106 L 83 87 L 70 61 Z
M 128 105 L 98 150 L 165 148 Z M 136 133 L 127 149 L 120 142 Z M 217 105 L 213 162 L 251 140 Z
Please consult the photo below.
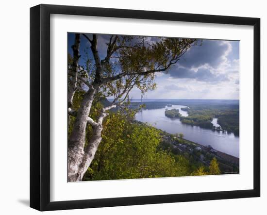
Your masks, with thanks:
M 239 42 L 203 40 L 191 47 L 169 71 L 172 78 L 195 79 L 200 82 L 227 82 L 239 72 Z

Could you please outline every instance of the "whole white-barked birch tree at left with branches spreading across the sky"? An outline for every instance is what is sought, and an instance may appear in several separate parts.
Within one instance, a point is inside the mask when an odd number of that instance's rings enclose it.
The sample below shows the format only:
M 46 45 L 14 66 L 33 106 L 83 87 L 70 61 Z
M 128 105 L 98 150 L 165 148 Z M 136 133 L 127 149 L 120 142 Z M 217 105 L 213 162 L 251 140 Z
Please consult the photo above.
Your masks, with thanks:
M 93 65 L 87 69 L 78 64 L 81 36 L 88 40 L 93 56 Z M 191 46 L 199 42 L 183 38 L 157 38 L 151 42 L 143 36 L 118 35 L 111 35 L 108 41 L 105 57 L 100 59 L 98 35 L 75 34 L 73 59 L 68 68 L 68 114 L 75 117 L 68 139 L 67 180 L 71 182 L 81 181 L 92 163 L 102 139 L 102 123 L 108 111 L 122 106 L 134 86 L 142 93 L 155 89 L 155 72 L 168 71 Z M 80 107 L 75 110 L 72 108 L 73 96 L 79 86 L 86 88 L 86 92 Z M 114 99 L 110 106 L 102 107 L 93 119 L 90 117 L 91 107 L 100 96 L 113 96 Z M 85 145 L 87 126 L 92 128 L 92 133 Z

